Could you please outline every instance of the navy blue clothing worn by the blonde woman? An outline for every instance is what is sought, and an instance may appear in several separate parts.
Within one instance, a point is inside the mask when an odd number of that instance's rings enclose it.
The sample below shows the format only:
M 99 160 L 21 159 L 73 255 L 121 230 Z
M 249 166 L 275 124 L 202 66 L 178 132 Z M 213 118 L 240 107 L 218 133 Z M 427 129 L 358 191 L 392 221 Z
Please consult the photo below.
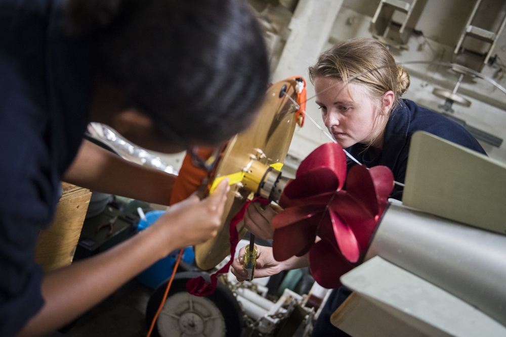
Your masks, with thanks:
M 416 103 L 404 99 L 400 100 L 399 105 L 392 111 L 385 127 L 382 152 L 375 154 L 372 149 L 367 149 L 362 144 L 353 145 L 346 150 L 367 167 L 387 166 L 392 170 L 395 181 L 404 183 L 411 137 L 414 132 L 420 130 L 486 154 L 480 143 L 461 125 L 443 115 L 419 107 Z M 358 164 L 348 159 L 348 169 L 353 165 Z M 403 187 L 396 184 L 390 197 L 402 200 L 402 191 Z M 332 325 L 330 316 L 350 294 L 351 290 L 346 286 L 332 290 L 318 316 L 313 329 L 313 336 L 349 337 L 343 330 Z

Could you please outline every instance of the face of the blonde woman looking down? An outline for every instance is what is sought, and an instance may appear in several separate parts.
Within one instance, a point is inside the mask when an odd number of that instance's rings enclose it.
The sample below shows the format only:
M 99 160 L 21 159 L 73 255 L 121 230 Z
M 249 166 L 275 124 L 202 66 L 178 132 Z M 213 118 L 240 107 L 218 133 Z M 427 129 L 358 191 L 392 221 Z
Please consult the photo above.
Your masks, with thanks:
M 341 79 L 331 77 L 316 77 L 314 85 L 323 122 L 343 148 L 369 144 L 381 133 L 374 127 L 378 109 L 365 85 L 349 83 L 346 87 Z

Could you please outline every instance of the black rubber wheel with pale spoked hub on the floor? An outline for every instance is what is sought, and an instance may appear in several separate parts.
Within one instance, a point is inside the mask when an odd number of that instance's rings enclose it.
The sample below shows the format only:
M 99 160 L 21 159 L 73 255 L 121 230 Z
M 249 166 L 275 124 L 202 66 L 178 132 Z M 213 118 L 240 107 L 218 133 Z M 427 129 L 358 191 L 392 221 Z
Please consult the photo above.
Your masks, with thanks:
M 227 286 L 218 281 L 215 293 L 206 297 L 193 296 L 186 290 L 186 282 L 205 272 L 178 272 L 174 277 L 167 299 L 151 333 L 156 337 L 224 336 L 241 335 L 243 318 L 241 308 Z M 146 308 L 146 325 L 151 322 L 165 294 L 168 280 L 160 284 L 151 295 Z

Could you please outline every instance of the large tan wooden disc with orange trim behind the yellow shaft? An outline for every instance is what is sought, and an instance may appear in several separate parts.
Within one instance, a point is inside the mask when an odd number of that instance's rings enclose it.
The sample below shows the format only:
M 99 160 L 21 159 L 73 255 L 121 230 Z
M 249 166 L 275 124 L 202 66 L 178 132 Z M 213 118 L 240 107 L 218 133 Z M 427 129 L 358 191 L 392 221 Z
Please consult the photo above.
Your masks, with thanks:
M 267 166 L 283 163 L 297 124 L 298 107 L 294 103 L 297 101 L 297 83 L 295 79 L 286 79 L 276 82 L 267 90 L 256 120 L 248 129 L 229 140 L 210 180 L 227 175 L 237 176 L 244 171 L 251 173 L 255 167 L 262 166 L 258 165 L 259 162 Z M 256 196 L 256 187 L 254 183 L 243 179 L 230 186 L 218 235 L 195 246 L 195 262 L 200 269 L 212 269 L 230 254 L 230 220 L 248 198 Z M 237 231 L 241 239 L 246 233 L 243 221 L 237 224 Z

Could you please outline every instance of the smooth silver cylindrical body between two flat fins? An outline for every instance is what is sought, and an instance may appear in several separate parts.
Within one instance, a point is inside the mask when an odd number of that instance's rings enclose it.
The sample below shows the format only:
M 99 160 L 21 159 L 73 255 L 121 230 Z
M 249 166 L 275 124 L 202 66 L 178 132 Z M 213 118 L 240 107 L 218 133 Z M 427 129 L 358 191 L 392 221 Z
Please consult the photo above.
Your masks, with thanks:
M 398 265 L 506 325 L 506 236 L 390 205 L 365 260 Z

